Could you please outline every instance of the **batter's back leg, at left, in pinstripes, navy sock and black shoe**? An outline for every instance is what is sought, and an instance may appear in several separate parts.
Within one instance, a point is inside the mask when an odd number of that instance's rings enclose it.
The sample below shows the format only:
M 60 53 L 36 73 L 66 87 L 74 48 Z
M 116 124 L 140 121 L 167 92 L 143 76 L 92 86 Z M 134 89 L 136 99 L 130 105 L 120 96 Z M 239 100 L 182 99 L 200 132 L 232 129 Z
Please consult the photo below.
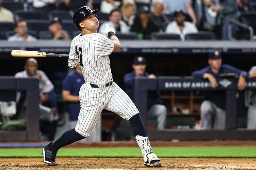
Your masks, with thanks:
M 57 165 L 55 162 L 56 153 L 61 147 L 90 136 L 100 112 L 105 106 L 104 102 L 107 103 L 105 101 L 108 98 L 107 95 L 105 92 L 102 92 L 102 89 L 92 88 L 89 83 L 82 85 L 79 92 L 81 109 L 76 128 L 67 130 L 54 143 L 51 142 L 43 149 L 42 154 L 46 164 Z

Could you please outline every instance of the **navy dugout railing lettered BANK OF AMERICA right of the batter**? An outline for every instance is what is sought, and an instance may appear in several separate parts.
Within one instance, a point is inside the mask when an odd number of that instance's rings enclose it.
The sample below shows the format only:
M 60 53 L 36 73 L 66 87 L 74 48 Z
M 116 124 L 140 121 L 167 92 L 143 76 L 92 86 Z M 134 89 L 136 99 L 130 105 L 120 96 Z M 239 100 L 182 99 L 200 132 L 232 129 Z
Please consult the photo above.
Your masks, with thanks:
M 255 140 L 256 130 L 236 129 L 237 78 L 218 78 L 216 90 L 226 91 L 226 127 L 224 130 L 148 129 L 151 140 Z M 246 89 L 256 90 L 256 78 L 246 79 Z M 133 101 L 147 127 L 147 94 L 152 90 L 214 90 L 209 81 L 192 77 L 134 78 Z

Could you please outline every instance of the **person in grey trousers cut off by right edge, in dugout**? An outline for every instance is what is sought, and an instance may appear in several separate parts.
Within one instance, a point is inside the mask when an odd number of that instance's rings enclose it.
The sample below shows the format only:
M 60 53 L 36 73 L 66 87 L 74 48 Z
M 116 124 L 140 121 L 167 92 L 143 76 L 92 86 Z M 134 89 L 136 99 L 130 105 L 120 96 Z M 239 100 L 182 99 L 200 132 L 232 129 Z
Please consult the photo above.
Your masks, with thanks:
M 253 66 L 249 71 L 250 77 L 256 77 L 256 66 Z M 250 102 L 247 115 L 247 129 L 256 129 L 256 91 L 250 92 Z

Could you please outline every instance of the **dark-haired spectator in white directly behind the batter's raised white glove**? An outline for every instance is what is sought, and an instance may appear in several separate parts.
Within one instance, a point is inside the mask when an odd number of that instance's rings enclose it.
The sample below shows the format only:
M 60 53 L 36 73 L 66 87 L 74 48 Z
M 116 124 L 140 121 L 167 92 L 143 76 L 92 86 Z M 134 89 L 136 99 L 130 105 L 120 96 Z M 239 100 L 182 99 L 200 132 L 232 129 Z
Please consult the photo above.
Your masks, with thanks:
M 115 31 L 119 31 L 121 33 L 129 33 L 129 27 L 123 20 L 121 20 L 121 17 L 121 11 L 119 9 L 112 10 L 108 17 L 109 21 L 101 24 L 99 32 L 102 33 L 108 24 L 108 26 L 112 27 Z

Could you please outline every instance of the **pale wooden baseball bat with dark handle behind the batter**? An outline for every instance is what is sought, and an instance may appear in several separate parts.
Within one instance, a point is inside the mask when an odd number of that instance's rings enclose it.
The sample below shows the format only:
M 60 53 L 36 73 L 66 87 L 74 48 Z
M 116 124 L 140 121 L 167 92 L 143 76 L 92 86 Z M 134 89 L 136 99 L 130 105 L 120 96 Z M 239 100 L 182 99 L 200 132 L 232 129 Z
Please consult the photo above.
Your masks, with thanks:
M 68 54 L 54 54 L 40 51 L 12 50 L 13 57 L 68 57 Z

